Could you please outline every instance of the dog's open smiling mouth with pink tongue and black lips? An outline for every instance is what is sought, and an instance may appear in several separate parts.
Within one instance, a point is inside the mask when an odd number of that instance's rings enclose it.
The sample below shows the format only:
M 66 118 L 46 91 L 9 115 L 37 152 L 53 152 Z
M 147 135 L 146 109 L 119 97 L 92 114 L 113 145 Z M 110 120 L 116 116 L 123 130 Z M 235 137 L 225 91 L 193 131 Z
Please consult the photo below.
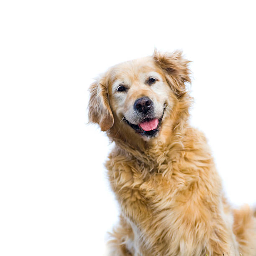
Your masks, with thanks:
M 124 118 L 125 122 L 131 126 L 137 133 L 140 133 L 143 136 L 155 136 L 156 133 L 159 132 L 159 126 L 161 124 L 161 120 L 163 119 L 164 111 L 161 116 L 161 118 L 157 119 L 148 119 L 146 118 L 143 120 L 143 122 L 139 123 L 138 125 L 135 125 L 133 123 L 130 123 L 126 118 Z

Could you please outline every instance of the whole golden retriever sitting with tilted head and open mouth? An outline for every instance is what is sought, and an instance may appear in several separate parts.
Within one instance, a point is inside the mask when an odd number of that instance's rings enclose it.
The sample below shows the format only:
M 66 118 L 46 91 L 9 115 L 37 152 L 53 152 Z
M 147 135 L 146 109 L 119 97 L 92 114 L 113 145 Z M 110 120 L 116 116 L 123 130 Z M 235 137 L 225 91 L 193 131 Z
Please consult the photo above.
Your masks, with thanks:
M 89 121 L 115 147 L 105 166 L 120 205 L 110 256 L 256 256 L 256 218 L 230 207 L 207 140 L 189 125 L 181 51 L 126 61 L 90 86 Z

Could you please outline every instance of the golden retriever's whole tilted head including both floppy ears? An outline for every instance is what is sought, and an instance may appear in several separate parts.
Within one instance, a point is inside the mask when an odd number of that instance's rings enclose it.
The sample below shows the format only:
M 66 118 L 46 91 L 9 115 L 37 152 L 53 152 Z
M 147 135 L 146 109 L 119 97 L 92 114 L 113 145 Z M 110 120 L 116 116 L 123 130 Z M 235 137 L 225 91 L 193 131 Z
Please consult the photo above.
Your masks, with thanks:
M 131 139 L 148 140 L 170 130 L 188 108 L 188 63 L 179 51 L 155 51 L 153 56 L 111 67 L 90 87 L 90 122 L 112 136 Z

